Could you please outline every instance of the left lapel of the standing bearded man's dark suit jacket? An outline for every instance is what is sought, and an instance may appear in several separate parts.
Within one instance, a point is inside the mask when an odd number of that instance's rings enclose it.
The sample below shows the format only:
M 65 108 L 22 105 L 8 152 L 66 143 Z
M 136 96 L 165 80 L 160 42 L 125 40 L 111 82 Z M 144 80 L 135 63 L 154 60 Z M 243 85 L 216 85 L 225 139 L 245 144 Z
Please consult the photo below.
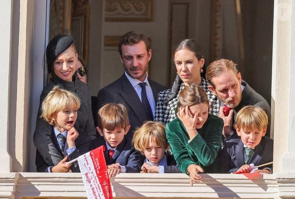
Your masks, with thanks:
M 140 122 L 147 120 L 141 101 L 125 74 L 122 75 L 121 80 L 123 87 L 121 96 L 135 112 L 135 115 Z

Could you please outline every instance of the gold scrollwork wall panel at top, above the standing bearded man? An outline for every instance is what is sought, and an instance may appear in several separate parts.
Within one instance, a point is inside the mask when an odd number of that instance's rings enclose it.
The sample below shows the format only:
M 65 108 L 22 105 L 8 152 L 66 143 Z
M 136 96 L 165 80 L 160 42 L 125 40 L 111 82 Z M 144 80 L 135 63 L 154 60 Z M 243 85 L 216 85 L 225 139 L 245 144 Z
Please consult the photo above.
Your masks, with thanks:
M 151 21 L 153 0 L 105 0 L 105 21 Z

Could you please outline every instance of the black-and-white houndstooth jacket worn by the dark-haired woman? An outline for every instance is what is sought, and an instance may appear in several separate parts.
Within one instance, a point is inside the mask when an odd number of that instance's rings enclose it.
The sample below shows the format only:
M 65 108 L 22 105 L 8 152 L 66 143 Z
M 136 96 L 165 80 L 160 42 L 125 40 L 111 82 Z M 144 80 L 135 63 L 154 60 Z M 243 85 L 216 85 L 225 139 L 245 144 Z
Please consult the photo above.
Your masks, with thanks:
M 211 92 L 209 89 L 209 82 L 204 78 L 201 78 L 200 86 L 204 89 L 206 94 L 208 95 L 210 110 L 209 113 L 218 116 L 219 114 L 219 102 L 218 98 Z M 171 89 L 161 91 L 158 94 L 158 103 L 156 106 L 155 118 L 154 121 L 162 122 L 163 124 L 167 124 L 176 118 L 176 108 L 178 107 L 179 102 L 179 92 L 184 89 L 185 85 L 182 82 L 181 87 L 175 98 L 166 102 L 166 98 Z

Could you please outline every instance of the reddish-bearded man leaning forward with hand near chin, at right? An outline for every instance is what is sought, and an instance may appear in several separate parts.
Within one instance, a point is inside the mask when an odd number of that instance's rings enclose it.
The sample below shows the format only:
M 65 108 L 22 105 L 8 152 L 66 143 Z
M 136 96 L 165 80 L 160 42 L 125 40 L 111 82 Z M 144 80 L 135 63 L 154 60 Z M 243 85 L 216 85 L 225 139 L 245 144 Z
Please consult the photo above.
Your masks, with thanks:
M 241 73 L 230 60 L 212 62 L 206 71 L 209 88 L 221 101 L 219 117 L 223 119 L 223 135 L 230 138 L 237 135 L 235 132 L 235 118 L 244 106 L 253 105 L 263 108 L 268 115 L 268 129 L 266 136 L 270 137 L 271 107 L 261 95 L 249 84 L 242 80 Z

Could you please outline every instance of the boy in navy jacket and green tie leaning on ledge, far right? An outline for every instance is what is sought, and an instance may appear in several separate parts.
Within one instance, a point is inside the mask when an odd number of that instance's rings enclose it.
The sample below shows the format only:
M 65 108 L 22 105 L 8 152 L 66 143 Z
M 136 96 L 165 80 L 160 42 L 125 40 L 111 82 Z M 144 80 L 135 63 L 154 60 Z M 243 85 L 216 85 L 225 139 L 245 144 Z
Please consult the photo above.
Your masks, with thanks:
M 237 114 L 236 130 L 239 138 L 226 141 L 220 158 L 221 171 L 250 173 L 251 166 L 273 161 L 274 140 L 265 137 L 268 116 L 258 106 L 245 106 Z M 273 166 L 258 167 L 254 173 L 272 174 Z

